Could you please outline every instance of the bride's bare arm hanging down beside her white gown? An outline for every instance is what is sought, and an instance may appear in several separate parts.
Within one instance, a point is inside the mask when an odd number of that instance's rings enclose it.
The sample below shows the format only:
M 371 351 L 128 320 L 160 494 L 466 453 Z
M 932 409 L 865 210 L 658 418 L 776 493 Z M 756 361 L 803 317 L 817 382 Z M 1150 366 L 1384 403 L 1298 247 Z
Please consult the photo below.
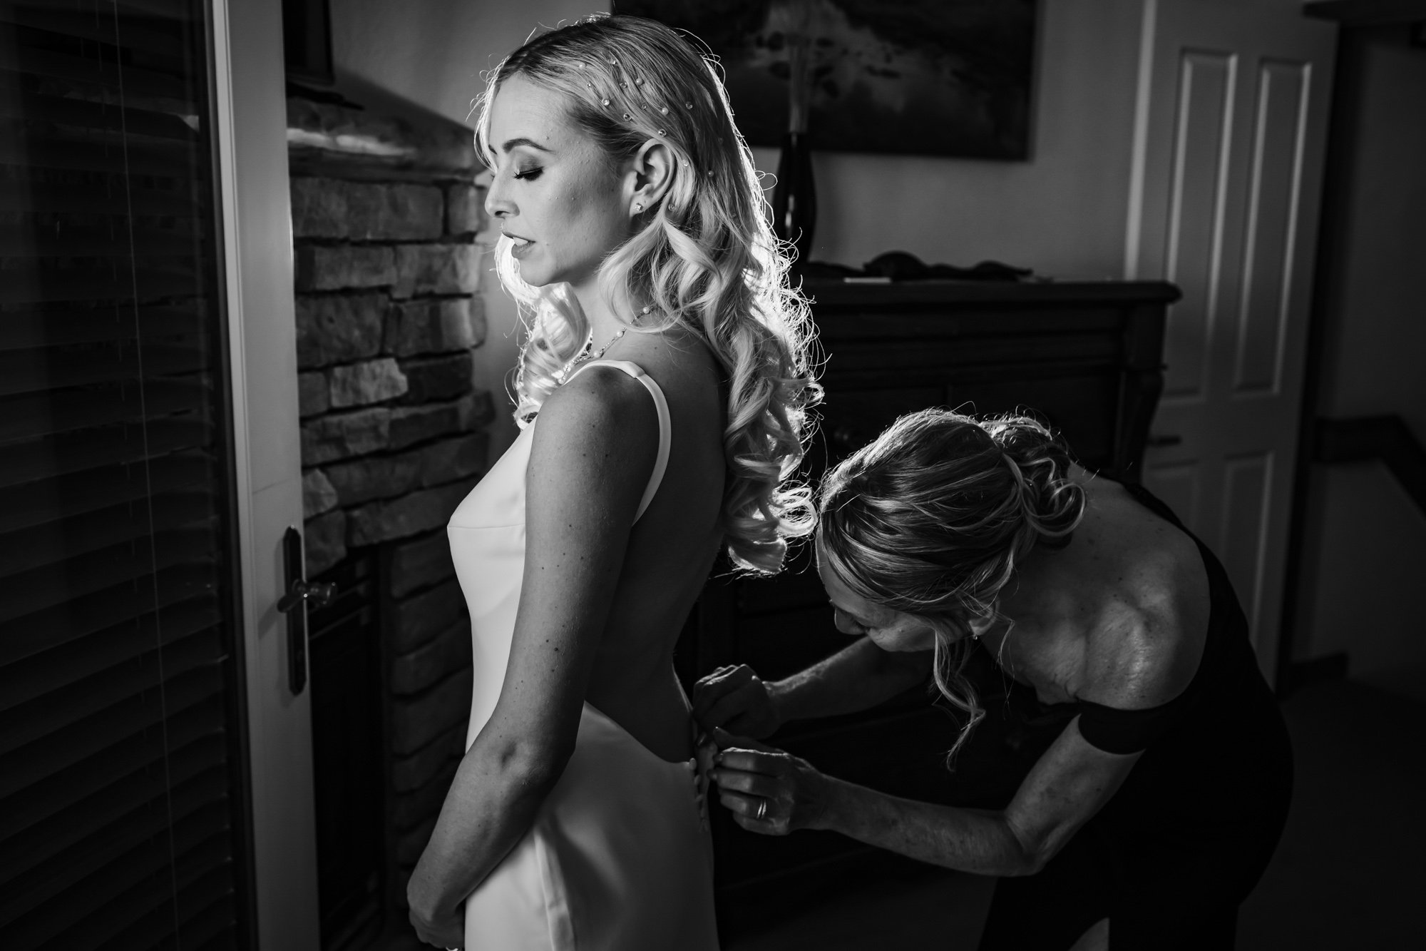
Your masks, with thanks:
M 525 835 L 575 750 L 659 421 L 637 381 L 596 367 L 545 401 L 533 438 L 511 658 L 412 874 L 418 932 L 443 935 L 458 921 L 459 904 Z

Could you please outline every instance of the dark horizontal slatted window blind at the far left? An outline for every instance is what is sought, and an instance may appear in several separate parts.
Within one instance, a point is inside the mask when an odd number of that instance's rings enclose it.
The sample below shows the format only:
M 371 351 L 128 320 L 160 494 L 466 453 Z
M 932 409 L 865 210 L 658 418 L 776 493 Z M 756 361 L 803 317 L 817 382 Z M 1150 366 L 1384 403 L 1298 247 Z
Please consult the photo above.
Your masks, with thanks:
M 0 0 L 0 947 L 247 947 L 195 0 Z

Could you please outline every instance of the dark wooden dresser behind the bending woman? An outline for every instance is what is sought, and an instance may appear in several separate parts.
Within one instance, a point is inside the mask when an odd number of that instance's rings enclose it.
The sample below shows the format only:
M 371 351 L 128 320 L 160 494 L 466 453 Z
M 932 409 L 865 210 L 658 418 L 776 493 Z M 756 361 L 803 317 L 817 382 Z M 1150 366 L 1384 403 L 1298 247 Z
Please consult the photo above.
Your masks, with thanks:
M 1172 284 L 809 281 L 806 290 L 826 356 L 823 423 L 809 453 L 813 480 L 897 416 L 945 406 L 1032 408 L 1088 468 L 1137 481 L 1162 388 L 1164 314 L 1178 298 Z M 804 547 L 776 578 L 734 580 L 724 565 L 689 618 L 676 663 L 687 687 L 734 663 L 774 680 L 847 643 Z M 957 728 L 917 688 L 861 714 L 787 724 L 769 743 L 831 775 L 898 795 L 997 804 L 1002 781 L 981 783 L 975 777 L 984 771 L 973 764 L 947 771 Z M 1014 745 L 1007 743 L 1007 755 L 1032 761 L 1034 751 Z M 866 881 L 908 862 L 834 832 L 760 837 L 734 825 L 716 802 L 712 811 L 724 940 L 826 895 L 834 882 Z

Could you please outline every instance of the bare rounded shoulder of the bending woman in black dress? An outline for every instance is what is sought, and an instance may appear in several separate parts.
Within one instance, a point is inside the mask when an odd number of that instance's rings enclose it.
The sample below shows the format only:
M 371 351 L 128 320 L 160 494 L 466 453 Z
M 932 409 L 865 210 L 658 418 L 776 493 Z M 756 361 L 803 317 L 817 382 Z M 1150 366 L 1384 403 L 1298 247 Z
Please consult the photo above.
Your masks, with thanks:
M 1208 634 L 1208 573 L 1194 540 L 1121 485 L 1097 480 L 1085 528 L 1105 551 L 1084 700 L 1138 710 L 1165 704 L 1198 673 Z

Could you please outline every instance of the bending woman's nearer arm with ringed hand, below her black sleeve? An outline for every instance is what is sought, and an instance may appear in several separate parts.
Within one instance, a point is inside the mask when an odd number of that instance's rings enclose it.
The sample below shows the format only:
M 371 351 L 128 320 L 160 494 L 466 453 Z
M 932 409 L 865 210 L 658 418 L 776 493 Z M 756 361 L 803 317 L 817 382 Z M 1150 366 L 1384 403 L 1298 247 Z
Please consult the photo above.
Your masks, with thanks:
M 1079 735 L 1078 723 L 1070 721 L 1002 811 L 886 795 L 724 733 L 716 734 L 724 748 L 712 778 L 737 824 L 754 832 L 827 828 L 947 868 L 1032 875 L 1109 801 L 1139 758 L 1097 750 Z

